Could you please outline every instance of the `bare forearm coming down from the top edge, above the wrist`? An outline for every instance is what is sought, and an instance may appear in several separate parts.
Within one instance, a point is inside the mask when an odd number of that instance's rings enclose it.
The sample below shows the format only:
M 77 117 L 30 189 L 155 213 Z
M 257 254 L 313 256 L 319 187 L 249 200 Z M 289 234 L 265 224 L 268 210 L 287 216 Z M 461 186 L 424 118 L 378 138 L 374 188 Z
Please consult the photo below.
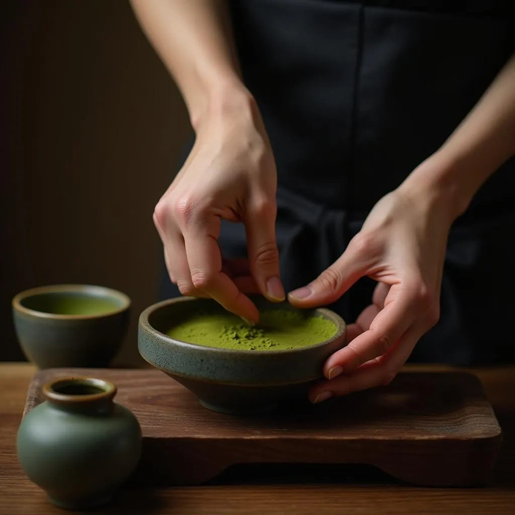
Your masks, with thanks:
M 247 95 L 225 0 L 131 0 L 131 4 L 177 82 L 194 128 L 213 106 Z

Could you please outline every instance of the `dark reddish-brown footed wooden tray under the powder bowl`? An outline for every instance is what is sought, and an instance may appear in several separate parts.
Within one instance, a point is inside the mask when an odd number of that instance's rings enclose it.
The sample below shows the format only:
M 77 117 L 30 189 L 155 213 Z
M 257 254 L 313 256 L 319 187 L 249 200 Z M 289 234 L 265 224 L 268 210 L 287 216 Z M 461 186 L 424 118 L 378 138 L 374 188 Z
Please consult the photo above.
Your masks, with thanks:
M 373 465 L 424 486 L 488 482 L 502 432 L 482 385 L 460 372 L 402 372 L 388 386 L 291 406 L 275 415 L 222 415 L 159 370 L 48 369 L 29 387 L 25 413 L 41 386 L 59 376 L 114 382 L 116 401 L 138 417 L 144 436 L 137 483 L 199 484 L 234 464 Z

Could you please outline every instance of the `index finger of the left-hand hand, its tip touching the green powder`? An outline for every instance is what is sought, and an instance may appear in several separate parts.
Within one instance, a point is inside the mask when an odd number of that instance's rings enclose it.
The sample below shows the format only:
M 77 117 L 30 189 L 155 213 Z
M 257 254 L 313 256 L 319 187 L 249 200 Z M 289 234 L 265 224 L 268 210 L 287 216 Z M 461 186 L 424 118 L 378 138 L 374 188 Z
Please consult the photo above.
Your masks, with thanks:
M 219 225 L 218 219 L 218 225 Z M 222 272 L 220 249 L 213 233 L 219 227 L 211 228 L 205 224 L 192 224 L 184 234 L 186 256 L 190 267 L 193 285 L 207 293 L 226 310 L 252 322 L 259 321 L 258 308 Z

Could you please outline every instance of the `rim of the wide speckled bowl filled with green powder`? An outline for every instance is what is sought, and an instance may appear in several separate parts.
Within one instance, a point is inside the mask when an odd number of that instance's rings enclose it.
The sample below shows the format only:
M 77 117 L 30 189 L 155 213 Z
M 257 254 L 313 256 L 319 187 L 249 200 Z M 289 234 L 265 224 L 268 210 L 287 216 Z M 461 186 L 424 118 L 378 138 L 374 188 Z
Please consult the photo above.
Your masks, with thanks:
M 264 297 L 263 297 L 263 299 L 266 300 Z M 330 345 L 335 340 L 346 336 L 346 333 L 347 333 L 347 323 L 345 322 L 345 320 L 342 317 L 340 317 L 340 315 L 338 315 L 337 313 L 335 313 L 334 311 L 330 310 L 327 307 L 311 308 L 311 310 L 317 314 L 324 316 L 325 318 L 329 318 L 336 325 L 336 333 L 333 336 L 331 336 L 331 338 L 321 341 L 318 344 L 305 345 L 303 347 L 296 347 L 294 349 L 263 350 L 263 351 L 254 350 L 253 351 L 253 350 L 246 350 L 246 349 L 225 349 L 222 347 L 210 347 L 208 345 L 198 345 L 198 344 L 193 344 L 189 341 L 183 341 L 183 340 L 178 340 L 176 338 L 171 338 L 170 336 L 158 331 L 157 329 L 153 328 L 152 325 L 150 325 L 150 322 L 148 321 L 149 315 L 151 313 L 157 311 L 159 308 L 167 306 L 169 304 L 175 304 L 178 302 L 188 302 L 188 301 L 191 302 L 191 301 L 195 301 L 195 300 L 209 300 L 209 299 L 204 299 L 204 298 L 199 299 L 197 297 L 184 296 L 184 297 L 175 297 L 172 299 L 166 299 L 166 300 L 162 300 L 160 302 L 156 302 L 155 304 L 152 304 L 152 305 L 148 306 L 145 310 L 143 310 L 143 312 L 140 315 L 139 326 L 141 328 L 144 328 L 145 331 L 148 331 L 153 336 L 159 338 L 166 345 L 173 345 L 175 347 L 179 346 L 179 347 L 183 347 L 186 349 L 191 348 L 191 349 L 195 349 L 196 351 L 199 351 L 199 352 L 206 352 L 206 353 L 217 352 L 217 353 L 222 353 L 222 354 L 232 354 L 232 355 L 236 354 L 236 355 L 242 355 L 242 356 L 247 356 L 247 357 L 254 356 L 254 355 L 278 356 L 281 354 L 293 354 L 293 353 L 305 352 L 307 350 L 313 350 L 313 349 L 317 349 L 319 347 L 324 347 L 324 346 Z M 216 302 L 216 301 L 213 300 L 213 302 Z M 289 304 L 289 305 L 291 306 L 291 304 Z M 294 306 L 291 306 L 291 307 L 294 307 Z M 297 308 L 297 309 L 299 309 L 299 308 Z M 145 359 L 145 361 L 147 361 L 147 360 Z M 150 362 L 148 362 L 148 363 L 150 363 Z

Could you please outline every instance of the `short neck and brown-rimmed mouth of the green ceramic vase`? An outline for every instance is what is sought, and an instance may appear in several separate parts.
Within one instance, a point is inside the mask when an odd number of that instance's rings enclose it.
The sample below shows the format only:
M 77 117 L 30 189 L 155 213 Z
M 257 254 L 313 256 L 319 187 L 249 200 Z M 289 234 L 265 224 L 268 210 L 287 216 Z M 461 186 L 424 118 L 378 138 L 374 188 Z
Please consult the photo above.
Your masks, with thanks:
M 92 377 L 64 377 L 43 386 L 44 398 L 54 407 L 67 412 L 90 415 L 111 413 L 116 386 Z

